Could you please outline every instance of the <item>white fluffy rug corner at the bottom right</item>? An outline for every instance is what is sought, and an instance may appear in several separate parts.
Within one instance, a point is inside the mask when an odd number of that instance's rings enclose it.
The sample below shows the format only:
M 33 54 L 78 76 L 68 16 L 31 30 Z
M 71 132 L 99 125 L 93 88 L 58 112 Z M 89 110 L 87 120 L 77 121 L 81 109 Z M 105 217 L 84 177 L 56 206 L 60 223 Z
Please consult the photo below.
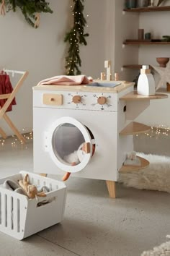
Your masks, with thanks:
M 166 236 L 170 239 L 170 236 Z M 141 256 L 170 256 L 170 241 L 154 247 L 153 250 L 143 252 Z

